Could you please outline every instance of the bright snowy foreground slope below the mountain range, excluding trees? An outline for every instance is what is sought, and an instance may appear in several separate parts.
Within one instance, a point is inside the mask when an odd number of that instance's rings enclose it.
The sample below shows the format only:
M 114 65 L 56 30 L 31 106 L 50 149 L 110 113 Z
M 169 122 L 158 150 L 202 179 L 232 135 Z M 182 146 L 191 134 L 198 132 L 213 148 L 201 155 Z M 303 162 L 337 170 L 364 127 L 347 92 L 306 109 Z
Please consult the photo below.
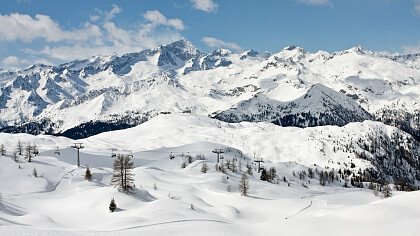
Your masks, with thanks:
M 375 166 L 356 155 L 359 140 L 368 143 L 373 134 L 387 139 L 395 133 L 409 139 L 372 121 L 301 129 L 161 115 L 134 128 L 78 140 L 86 146 L 81 161 L 93 173 L 91 182 L 84 179 L 85 168 L 75 166 L 76 153 L 69 148 L 73 140 L 0 134 L 7 149 L 7 156 L 0 156 L 0 235 L 413 235 L 420 230 L 419 192 L 394 191 L 394 197 L 381 199 L 368 189 L 341 187 L 344 180 L 322 187 L 318 176 L 302 180 L 293 175 L 308 167 L 337 170 L 354 163 L 351 169 L 357 172 Z M 35 143 L 40 156 L 31 163 L 23 156 L 14 162 L 9 155 L 18 140 Z M 344 150 L 351 143 L 354 147 Z M 60 155 L 55 154 L 57 147 Z M 132 194 L 110 186 L 113 148 L 134 155 Z M 254 171 L 249 196 L 241 196 L 240 173 L 215 171 L 214 148 L 227 151 L 224 161 L 236 158 L 243 165 L 254 155 L 264 158 L 263 165 L 275 166 L 290 186 L 260 181 Z M 206 160 L 194 158 L 185 169 L 180 167 L 186 155 L 196 154 Z M 402 169 L 410 167 L 401 161 Z M 210 166 L 206 174 L 200 172 L 203 162 Z M 34 168 L 39 177 L 32 175 Z M 108 212 L 111 198 L 119 207 L 115 213 Z

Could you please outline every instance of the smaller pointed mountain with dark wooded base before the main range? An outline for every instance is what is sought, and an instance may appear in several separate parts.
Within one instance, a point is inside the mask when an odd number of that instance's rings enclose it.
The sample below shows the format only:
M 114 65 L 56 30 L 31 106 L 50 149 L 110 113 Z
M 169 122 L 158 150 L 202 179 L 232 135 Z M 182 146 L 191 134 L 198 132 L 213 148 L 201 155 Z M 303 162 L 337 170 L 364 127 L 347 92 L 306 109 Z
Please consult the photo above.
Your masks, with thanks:
M 371 115 L 351 98 L 315 84 L 305 95 L 289 102 L 256 94 L 234 108 L 218 113 L 215 118 L 228 122 L 268 121 L 281 126 L 313 127 L 342 126 L 371 119 Z

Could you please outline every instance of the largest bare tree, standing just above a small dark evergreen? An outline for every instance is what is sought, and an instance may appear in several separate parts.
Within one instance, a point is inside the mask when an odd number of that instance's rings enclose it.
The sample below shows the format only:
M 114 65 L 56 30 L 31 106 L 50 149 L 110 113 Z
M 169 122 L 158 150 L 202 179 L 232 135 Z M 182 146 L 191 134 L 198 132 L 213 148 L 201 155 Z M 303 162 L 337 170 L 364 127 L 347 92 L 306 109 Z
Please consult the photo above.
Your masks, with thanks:
M 114 161 L 114 174 L 111 184 L 118 187 L 119 190 L 129 192 L 133 189 L 134 179 L 132 170 L 134 163 L 131 155 L 118 154 Z

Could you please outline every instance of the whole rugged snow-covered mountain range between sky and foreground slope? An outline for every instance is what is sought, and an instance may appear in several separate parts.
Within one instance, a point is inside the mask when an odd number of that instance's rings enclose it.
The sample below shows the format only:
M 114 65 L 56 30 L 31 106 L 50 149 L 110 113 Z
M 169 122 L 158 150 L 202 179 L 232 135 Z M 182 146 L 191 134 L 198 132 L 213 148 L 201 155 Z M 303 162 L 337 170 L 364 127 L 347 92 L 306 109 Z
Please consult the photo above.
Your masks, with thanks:
M 161 113 L 187 112 L 301 127 L 379 119 L 415 134 L 415 122 L 407 126 L 389 114 L 418 117 L 419 67 L 419 55 L 388 56 L 361 47 L 202 53 L 182 39 L 122 56 L 3 70 L 0 127 L 80 138 Z

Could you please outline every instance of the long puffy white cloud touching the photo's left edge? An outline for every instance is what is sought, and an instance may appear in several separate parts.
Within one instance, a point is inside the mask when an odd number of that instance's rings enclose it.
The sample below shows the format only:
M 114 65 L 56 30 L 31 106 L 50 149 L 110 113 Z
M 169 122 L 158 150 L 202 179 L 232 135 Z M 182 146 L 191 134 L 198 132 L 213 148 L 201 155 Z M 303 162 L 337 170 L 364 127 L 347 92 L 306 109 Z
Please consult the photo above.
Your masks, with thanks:
M 43 38 L 48 42 L 86 41 L 100 35 L 99 27 L 89 23 L 81 29 L 66 31 L 46 15 L 37 14 L 35 17 L 20 13 L 0 15 L 0 41 L 30 42 L 36 38 Z

